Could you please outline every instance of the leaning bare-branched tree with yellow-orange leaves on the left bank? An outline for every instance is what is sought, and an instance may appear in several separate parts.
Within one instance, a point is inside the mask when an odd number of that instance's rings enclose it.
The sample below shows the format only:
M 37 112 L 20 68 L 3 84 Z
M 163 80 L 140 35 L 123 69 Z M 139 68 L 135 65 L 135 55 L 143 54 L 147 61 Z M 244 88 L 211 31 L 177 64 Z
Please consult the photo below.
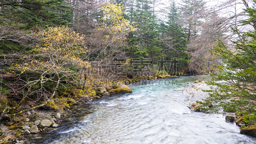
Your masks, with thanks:
M 65 87 L 64 83 L 80 84 L 79 71 L 90 67 L 90 63 L 80 59 L 81 53 L 88 52 L 83 46 L 84 35 L 66 26 L 47 27 L 34 32 L 34 35 L 42 37 L 41 43 L 28 54 L 13 56 L 15 58 L 9 68 L 9 75 L 15 79 L 13 84 L 8 85 L 9 91 L 20 94 L 22 99 L 16 106 L 4 108 L 0 119 L 10 117 L 8 112 L 17 110 L 30 96 L 37 96 L 37 100 L 43 99 L 43 102 L 26 110 L 18 110 L 12 116 L 55 100 L 54 96 L 60 86 Z

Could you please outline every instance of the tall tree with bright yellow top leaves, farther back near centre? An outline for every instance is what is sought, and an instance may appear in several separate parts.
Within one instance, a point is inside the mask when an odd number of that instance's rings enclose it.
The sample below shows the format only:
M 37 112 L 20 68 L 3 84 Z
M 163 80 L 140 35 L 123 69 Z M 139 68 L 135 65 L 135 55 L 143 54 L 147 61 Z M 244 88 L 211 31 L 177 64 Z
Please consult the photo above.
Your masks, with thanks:
M 90 40 L 90 52 L 97 58 L 111 59 L 113 54 L 120 53 L 119 48 L 126 45 L 126 36 L 135 28 L 124 18 L 123 6 L 107 4 L 101 7 L 102 19 L 96 23 L 94 37 Z

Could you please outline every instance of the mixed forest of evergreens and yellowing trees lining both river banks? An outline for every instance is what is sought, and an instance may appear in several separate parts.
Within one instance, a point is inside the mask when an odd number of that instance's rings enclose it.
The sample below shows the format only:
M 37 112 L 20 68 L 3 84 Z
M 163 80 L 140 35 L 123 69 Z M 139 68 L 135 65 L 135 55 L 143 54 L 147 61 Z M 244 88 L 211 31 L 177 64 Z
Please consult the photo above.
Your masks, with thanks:
M 63 111 L 118 93 L 116 82 L 211 74 L 208 84 L 217 88 L 202 104 L 219 103 L 210 109 L 238 112 L 254 124 L 255 6 L 256 0 L 0 0 L 0 120 L 12 124 L 36 108 Z

